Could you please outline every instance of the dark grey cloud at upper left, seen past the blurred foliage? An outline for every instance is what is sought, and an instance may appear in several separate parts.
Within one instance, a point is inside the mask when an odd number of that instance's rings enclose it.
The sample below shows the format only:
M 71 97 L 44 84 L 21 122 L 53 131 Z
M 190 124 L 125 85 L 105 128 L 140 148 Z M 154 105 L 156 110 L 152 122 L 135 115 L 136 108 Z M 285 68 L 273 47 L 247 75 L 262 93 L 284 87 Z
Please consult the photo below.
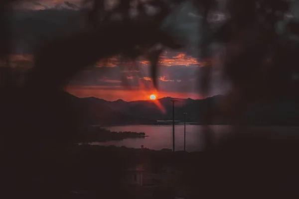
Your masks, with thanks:
M 84 17 L 72 9 L 15 10 L 10 16 L 13 54 L 34 53 L 43 42 L 79 31 Z

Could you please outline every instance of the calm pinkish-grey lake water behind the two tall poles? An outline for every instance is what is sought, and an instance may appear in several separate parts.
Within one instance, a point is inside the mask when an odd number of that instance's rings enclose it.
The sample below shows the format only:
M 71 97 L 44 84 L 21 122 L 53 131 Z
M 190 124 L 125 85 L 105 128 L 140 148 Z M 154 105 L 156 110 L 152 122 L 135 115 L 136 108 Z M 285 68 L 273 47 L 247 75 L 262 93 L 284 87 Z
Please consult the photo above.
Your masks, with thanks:
M 229 125 L 212 125 L 214 137 L 220 138 L 225 132 L 230 129 Z M 127 126 L 112 126 L 106 127 L 111 131 L 134 131 L 145 132 L 145 138 L 127 138 L 124 140 L 108 141 L 108 142 L 93 142 L 90 144 L 102 146 L 125 146 L 130 148 L 145 148 L 161 150 L 164 148 L 172 149 L 172 125 L 127 125 Z M 184 126 L 175 126 L 175 150 L 184 149 Z M 186 125 L 186 151 L 200 151 L 203 146 L 203 129 L 199 125 Z

